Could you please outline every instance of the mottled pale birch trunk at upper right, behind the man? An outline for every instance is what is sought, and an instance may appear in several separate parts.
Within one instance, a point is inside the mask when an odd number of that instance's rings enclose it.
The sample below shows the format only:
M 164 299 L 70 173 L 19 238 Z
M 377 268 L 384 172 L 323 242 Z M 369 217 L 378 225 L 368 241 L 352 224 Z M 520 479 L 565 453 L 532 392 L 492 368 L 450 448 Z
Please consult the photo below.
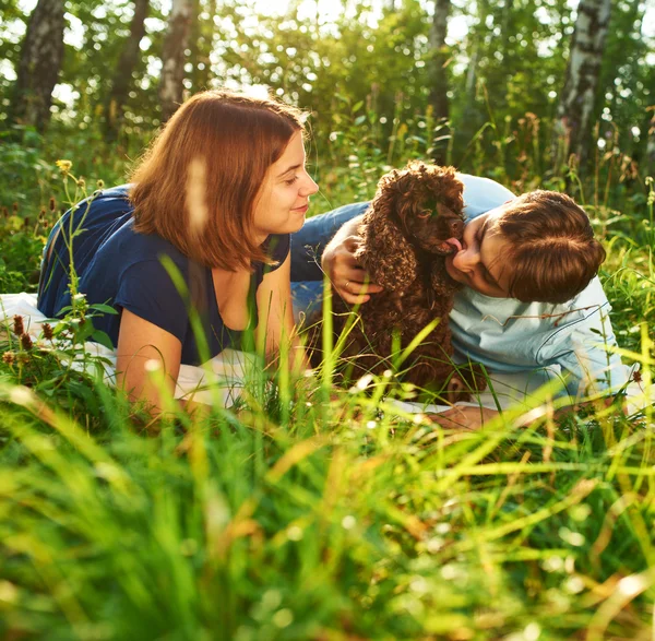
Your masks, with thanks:
M 611 0 L 580 1 L 567 79 L 557 108 L 555 135 L 565 136 L 568 144 L 563 151 L 577 154 L 581 165 L 590 154 L 590 130 L 610 7 Z M 565 159 L 565 156 L 559 158 Z

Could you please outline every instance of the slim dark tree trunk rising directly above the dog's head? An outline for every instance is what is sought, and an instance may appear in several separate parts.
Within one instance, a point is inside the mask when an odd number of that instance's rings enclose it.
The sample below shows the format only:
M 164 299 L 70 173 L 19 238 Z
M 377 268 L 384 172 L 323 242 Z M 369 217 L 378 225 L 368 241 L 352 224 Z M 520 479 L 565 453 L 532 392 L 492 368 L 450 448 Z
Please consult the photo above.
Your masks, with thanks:
M 450 116 L 450 106 L 448 99 L 448 70 L 449 59 L 448 45 L 445 36 L 448 33 L 448 15 L 451 9 L 451 0 L 434 0 L 434 17 L 430 29 L 430 49 L 431 49 L 431 73 L 430 73 L 430 105 L 434 114 L 434 119 L 439 122 L 445 122 Z M 445 129 L 440 129 L 440 136 L 446 133 Z M 438 164 L 445 161 L 445 146 L 436 144 L 433 159 Z

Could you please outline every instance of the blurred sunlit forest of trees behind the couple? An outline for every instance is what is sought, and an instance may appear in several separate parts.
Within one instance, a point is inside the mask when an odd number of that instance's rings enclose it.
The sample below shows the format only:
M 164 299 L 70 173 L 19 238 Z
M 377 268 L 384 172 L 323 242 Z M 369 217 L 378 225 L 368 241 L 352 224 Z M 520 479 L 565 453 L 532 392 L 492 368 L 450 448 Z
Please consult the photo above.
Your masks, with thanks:
M 57 158 L 123 181 L 216 86 L 311 114 L 321 210 L 412 157 L 615 206 L 655 167 L 655 0 L 3 0 L 0 25 L 5 206 L 57 193 Z

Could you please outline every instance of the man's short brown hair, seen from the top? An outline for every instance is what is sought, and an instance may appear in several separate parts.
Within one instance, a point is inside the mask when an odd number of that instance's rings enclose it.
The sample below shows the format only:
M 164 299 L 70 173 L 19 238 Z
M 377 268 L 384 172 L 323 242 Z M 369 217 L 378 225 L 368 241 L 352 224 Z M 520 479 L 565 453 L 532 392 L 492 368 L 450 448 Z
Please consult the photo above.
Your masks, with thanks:
M 557 191 L 532 191 L 511 201 L 493 229 L 508 240 L 503 262 L 511 265 L 510 295 L 524 302 L 570 300 L 605 260 L 584 210 Z

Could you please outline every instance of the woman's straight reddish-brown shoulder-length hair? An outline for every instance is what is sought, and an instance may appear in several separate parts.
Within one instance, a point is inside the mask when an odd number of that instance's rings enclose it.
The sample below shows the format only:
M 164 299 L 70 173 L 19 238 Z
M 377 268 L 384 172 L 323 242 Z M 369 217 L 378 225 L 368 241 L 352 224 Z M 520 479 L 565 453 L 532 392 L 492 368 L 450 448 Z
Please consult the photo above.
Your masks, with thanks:
M 252 234 L 254 204 L 269 167 L 303 130 L 301 116 L 230 91 L 191 97 L 132 173 L 134 229 L 210 268 L 270 262 Z

